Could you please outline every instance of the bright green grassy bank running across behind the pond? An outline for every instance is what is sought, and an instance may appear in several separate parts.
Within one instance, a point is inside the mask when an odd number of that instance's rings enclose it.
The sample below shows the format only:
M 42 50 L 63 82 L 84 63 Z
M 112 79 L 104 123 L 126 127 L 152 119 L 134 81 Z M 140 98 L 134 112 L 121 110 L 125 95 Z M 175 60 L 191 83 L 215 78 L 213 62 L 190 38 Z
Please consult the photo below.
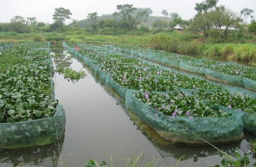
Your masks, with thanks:
M 37 33 L 0 32 L 0 41 L 32 41 Z M 218 39 L 205 39 L 203 35 L 180 31 L 148 33 L 145 35 L 91 35 L 86 31 L 44 32 L 40 33 L 45 41 L 77 41 L 97 44 L 124 44 L 151 47 L 173 53 L 225 57 L 239 61 L 256 61 L 255 36 L 247 37 L 247 43 L 223 43 Z M 246 39 L 247 39 L 246 38 Z

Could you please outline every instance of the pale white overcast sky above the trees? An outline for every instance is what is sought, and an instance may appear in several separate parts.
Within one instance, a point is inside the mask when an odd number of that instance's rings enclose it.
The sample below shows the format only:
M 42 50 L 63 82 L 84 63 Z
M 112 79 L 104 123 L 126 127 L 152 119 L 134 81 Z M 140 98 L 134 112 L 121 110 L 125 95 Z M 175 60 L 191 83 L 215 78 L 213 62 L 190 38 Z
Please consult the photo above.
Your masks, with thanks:
M 13 16 L 36 17 L 40 22 L 52 23 L 54 8 L 68 8 L 71 18 L 81 20 L 88 13 L 98 12 L 112 14 L 118 4 L 134 4 L 137 8 L 151 8 L 152 16 L 161 16 L 166 9 L 169 13 L 177 12 L 183 19 L 192 18 L 196 12 L 194 6 L 202 0 L 0 0 L 0 22 L 9 22 Z M 218 5 L 224 5 L 234 12 L 242 8 L 254 10 L 256 16 L 256 0 L 219 0 Z M 69 23 L 67 20 L 66 23 Z

